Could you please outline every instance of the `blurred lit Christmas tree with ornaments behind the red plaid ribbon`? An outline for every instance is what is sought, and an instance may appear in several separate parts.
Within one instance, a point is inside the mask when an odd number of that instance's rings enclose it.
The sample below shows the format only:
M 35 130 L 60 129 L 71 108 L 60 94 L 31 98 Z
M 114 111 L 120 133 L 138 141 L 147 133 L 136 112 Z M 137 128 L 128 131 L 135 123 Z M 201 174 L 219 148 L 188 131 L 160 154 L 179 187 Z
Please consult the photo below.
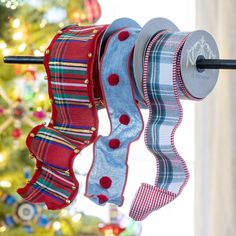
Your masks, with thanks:
M 94 5 L 95 4 L 95 5 Z M 7 65 L 7 55 L 43 56 L 54 34 L 70 23 L 92 24 L 97 1 L 0 0 L 0 233 L 2 235 L 100 235 L 100 219 L 73 205 L 47 211 L 22 201 L 16 189 L 34 172 L 25 137 L 47 120 L 50 104 L 43 66 Z

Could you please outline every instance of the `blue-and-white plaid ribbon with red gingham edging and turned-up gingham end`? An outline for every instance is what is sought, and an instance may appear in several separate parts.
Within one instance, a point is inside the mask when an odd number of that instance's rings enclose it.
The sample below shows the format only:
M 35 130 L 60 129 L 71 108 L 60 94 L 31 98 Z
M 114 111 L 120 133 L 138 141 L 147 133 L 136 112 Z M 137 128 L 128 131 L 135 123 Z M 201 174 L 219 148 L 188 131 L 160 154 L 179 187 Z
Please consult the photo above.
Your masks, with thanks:
M 174 200 L 189 179 L 184 160 L 174 144 L 182 120 L 179 94 L 189 99 L 177 73 L 177 63 L 188 34 L 161 32 L 148 45 L 144 65 L 144 95 L 149 107 L 145 143 L 155 155 L 155 185 L 143 184 L 131 205 L 130 217 L 143 220 L 151 212 Z

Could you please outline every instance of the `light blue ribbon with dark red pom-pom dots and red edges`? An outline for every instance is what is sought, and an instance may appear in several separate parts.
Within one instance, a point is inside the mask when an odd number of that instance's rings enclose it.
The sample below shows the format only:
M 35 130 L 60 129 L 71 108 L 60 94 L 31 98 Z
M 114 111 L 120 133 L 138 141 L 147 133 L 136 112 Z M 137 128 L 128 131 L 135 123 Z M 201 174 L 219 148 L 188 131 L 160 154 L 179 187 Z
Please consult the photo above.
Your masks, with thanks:
M 99 136 L 94 144 L 94 160 L 85 193 L 97 204 L 123 204 L 129 146 L 143 129 L 130 71 L 131 52 L 139 31 L 126 28 L 114 33 L 107 42 L 101 63 L 101 87 L 111 133 Z

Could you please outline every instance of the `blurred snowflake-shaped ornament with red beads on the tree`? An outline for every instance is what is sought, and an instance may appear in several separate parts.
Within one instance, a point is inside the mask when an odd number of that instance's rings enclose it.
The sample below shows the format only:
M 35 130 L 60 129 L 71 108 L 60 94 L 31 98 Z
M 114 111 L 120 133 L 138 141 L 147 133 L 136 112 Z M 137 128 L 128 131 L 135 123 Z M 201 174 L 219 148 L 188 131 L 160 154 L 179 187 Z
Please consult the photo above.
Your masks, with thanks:
M 47 116 L 47 112 L 44 110 L 44 107 L 47 107 L 47 103 L 44 102 L 44 99 L 47 98 L 44 95 L 46 89 L 41 89 L 37 96 L 42 85 L 40 82 L 36 82 L 35 78 L 35 70 L 28 67 L 25 75 L 14 80 L 15 87 L 12 90 L 0 88 L 0 98 L 2 98 L 0 102 L 3 104 L 0 106 L 0 118 L 2 118 L 0 134 L 11 129 L 14 148 L 19 147 L 19 140 L 25 133 L 23 126 L 35 126 L 37 121 L 42 121 Z

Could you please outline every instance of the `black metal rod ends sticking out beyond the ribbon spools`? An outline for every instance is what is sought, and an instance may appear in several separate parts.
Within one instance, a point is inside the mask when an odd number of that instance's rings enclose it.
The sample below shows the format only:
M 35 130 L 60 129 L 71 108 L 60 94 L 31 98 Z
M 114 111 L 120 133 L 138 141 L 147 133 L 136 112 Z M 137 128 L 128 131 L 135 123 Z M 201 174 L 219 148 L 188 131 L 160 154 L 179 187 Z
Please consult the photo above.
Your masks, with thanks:
M 6 56 L 4 62 L 9 64 L 43 64 L 43 57 L 34 56 Z M 236 60 L 198 59 L 198 69 L 233 69 L 236 70 Z

